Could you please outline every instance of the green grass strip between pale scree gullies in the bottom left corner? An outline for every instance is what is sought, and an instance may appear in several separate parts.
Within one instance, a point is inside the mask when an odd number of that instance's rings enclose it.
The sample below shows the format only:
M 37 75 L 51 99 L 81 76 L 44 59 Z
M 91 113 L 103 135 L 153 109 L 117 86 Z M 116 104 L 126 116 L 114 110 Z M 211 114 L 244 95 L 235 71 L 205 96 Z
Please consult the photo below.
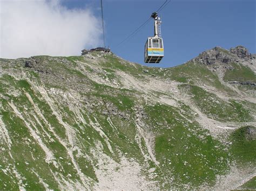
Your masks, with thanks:
M 39 147 L 33 138 L 30 136 L 28 128 L 24 123 L 16 117 L 12 112 L 2 112 L 3 121 L 7 128 L 11 131 L 11 137 L 15 139 L 12 143 L 11 153 L 14 157 L 16 168 L 19 173 L 26 178 L 23 183 L 27 183 L 27 189 L 44 189 L 43 185 L 39 182 L 37 176 L 32 172 L 36 171 L 43 179 L 46 180 L 50 188 L 56 188 L 57 184 L 54 180 L 48 179 L 48 174 L 51 174 L 44 158 L 45 154 L 42 148 Z M 32 140 L 32 142 L 29 142 Z M 32 151 L 32 154 L 31 154 Z M 33 158 L 36 158 L 35 161 Z M 2 160 L 3 161 L 3 160 Z M 10 160 L 9 162 L 11 162 Z M 26 165 L 28 162 L 29 165 Z M 1 163 L 1 162 L 0 162 Z M 54 171 L 54 168 L 52 168 Z M 3 180 L 5 182 L 6 180 Z M 0 187 L 1 188 L 1 187 Z

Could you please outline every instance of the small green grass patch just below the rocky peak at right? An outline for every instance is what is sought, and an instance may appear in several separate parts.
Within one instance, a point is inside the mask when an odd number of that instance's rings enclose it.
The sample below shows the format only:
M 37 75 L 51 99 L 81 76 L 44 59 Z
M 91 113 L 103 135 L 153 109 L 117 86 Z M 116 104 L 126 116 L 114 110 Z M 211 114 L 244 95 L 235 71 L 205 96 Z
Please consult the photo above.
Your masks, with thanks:
M 239 63 L 231 63 L 231 65 L 233 66 L 233 69 L 226 71 L 224 75 L 225 81 L 256 82 L 256 75 L 249 67 Z

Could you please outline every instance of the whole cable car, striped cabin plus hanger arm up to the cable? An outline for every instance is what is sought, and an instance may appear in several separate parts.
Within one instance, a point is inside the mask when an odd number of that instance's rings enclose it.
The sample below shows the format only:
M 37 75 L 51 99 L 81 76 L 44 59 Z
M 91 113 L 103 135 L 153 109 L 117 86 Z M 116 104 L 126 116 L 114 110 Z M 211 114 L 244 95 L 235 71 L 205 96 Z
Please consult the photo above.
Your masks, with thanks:
M 147 38 L 144 52 L 145 63 L 159 63 L 164 57 L 164 44 L 161 38 L 161 18 L 157 12 L 151 15 L 154 18 L 154 37 Z

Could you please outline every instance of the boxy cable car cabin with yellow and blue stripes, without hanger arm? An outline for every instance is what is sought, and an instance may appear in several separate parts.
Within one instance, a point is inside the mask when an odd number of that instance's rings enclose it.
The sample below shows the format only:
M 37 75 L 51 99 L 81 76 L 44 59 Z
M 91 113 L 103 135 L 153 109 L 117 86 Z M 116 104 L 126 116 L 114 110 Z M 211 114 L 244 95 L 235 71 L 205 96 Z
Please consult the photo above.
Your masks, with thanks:
M 159 63 L 164 57 L 164 45 L 162 38 L 150 37 L 145 44 L 145 63 Z

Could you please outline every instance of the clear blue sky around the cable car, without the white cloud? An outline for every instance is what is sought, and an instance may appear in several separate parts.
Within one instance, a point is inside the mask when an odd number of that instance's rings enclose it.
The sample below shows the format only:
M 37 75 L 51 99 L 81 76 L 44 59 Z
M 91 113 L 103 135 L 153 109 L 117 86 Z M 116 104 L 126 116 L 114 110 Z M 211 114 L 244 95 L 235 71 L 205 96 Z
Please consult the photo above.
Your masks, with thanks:
M 70 8 L 90 6 L 99 14 L 99 2 L 77 0 L 64 4 Z M 112 52 L 143 64 L 146 38 L 153 36 L 153 20 L 125 43 L 117 44 L 164 2 L 104 0 L 106 44 Z M 256 52 L 254 0 L 172 0 L 159 15 L 165 57 L 159 65 L 148 66 L 176 66 L 215 46 L 229 49 L 242 45 Z

